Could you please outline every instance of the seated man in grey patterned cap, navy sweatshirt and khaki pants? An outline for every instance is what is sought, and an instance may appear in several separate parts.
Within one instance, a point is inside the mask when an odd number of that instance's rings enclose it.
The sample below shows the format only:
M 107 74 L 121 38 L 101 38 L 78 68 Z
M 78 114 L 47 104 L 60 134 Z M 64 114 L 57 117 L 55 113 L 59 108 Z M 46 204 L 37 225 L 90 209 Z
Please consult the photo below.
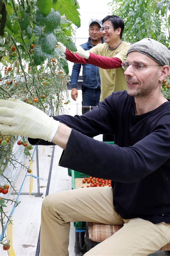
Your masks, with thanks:
M 153 39 L 133 44 L 122 63 L 128 91 L 113 92 L 83 116 L 52 118 L 24 102 L 0 100 L 1 133 L 59 145 L 59 165 L 113 181 L 44 199 L 41 256 L 69 255 L 72 221 L 123 225 L 86 256 L 146 256 L 170 242 L 170 101 L 161 94 L 169 59 Z M 108 133 L 114 145 L 90 138 Z

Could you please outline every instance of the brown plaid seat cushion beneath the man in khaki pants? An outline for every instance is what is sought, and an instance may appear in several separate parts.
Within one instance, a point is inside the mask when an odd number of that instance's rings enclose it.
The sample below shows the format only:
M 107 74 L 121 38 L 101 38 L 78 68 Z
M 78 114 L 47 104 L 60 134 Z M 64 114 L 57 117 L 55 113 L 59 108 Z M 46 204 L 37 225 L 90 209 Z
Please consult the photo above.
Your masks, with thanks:
M 122 225 L 106 225 L 94 222 L 88 222 L 89 238 L 95 242 L 102 242 L 109 238 L 116 231 L 121 229 Z M 163 246 L 160 251 L 170 251 L 170 243 Z

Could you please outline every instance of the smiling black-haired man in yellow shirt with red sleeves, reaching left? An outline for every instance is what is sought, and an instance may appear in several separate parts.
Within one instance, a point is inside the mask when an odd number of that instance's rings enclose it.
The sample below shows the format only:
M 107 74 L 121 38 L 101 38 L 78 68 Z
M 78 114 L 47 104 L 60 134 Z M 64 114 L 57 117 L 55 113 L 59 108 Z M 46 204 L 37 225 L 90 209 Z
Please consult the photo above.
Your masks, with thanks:
M 78 54 L 71 53 L 61 43 L 58 43 L 58 49 L 66 54 L 67 60 L 75 63 L 89 63 L 99 66 L 101 80 L 100 101 L 103 101 L 112 92 L 127 89 L 121 63 L 126 61 L 127 50 L 130 47 L 130 44 L 121 40 L 124 22 L 120 17 L 108 15 L 102 20 L 102 24 L 101 32 L 105 43 L 98 44 L 88 51 L 84 51 L 79 47 L 77 53 L 84 58 L 80 57 Z M 95 54 L 98 54 L 98 56 Z M 101 56 L 111 59 L 105 59 Z

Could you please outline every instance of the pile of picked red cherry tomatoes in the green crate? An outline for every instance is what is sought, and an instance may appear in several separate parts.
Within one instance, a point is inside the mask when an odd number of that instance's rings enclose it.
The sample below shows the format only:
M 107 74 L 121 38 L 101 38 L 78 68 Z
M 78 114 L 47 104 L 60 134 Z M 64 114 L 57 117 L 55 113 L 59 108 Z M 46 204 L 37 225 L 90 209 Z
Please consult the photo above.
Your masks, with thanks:
M 95 178 L 95 177 L 85 177 L 83 180 L 82 180 L 82 183 L 86 183 L 87 184 L 90 184 L 90 185 L 87 185 L 87 187 L 104 187 L 104 186 L 109 186 L 111 187 L 111 180 L 105 180 L 105 179 L 102 179 L 102 178 Z

